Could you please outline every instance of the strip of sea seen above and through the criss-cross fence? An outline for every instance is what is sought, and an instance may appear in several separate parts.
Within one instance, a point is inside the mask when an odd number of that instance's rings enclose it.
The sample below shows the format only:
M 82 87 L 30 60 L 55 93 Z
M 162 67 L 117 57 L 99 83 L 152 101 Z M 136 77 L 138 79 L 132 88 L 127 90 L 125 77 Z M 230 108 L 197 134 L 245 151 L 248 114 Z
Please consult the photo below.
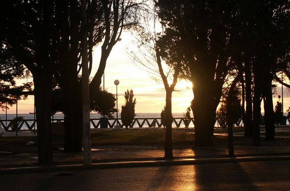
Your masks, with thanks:
M 191 113 L 192 117 L 193 117 L 193 114 Z M 262 113 L 262 115 L 264 115 L 264 113 Z M 288 113 L 284 113 L 284 116 L 287 116 Z M 35 115 L 34 114 L 27 114 L 27 113 L 24 113 L 24 114 L 17 114 L 17 116 L 22 116 L 24 119 L 35 119 Z M 182 118 L 184 117 L 184 114 L 183 113 L 172 113 L 172 116 L 174 118 Z M 6 115 L 5 114 L 0 114 L 0 119 L 3 121 L 3 124 L 6 125 L 6 122 L 5 120 L 11 120 L 11 119 L 14 119 L 16 117 L 16 114 L 7 114 L 7 118 L 6 118 Z M 102 117 L 100 114 L 98 113 L 91 113 L 91 119 L 93 119 L 94 123 L 97 125 L 98 123 L 98 120 L 100 117 Z M 63 114 L 62 113 L 56 113 L 54 114 L 53 116 L 51 116 L 51 122 L 57 122 L 57 121 L 63 121 Z M 114 118 L 116 118 L 116 115 L 114 115 Z M 121 123 L 121 115 L 120 113 L 118 114 L 118 119 L 119 119 L 119 122 Z M 136 113 L 136 116 L 135 118 L 160 118 L 160 113 Z M 61 120 L 62 119 L 62 120 Z M 148 122 L 151 124 L 151 122 L 153 121 L 153 119 L 148 119 Z M 158 123 L 160 123 L 160 119 L 157 120 Z M 180 119 L 177 119 L 176 120 L 177 123 L 180 122 Z M 109 123 L 112 124 L 114 122 L 114 120 L 109 120 Z M 139 120 L 140 123 L 143 122 L 143 120 Z M 33 121 L 27 121 L 27 123 L 31 126 Z M 7 122 L 7 124 L 9 124 L 9 121 Z M 287 120 L 287 125 L 289 125 L 289 121 Z M 176 127 L 176 124 L 173 122 L 172 123 L 172 126 L 173 127 Z M 215 124 L 216 127 L 218 127 L 218 123 L 216 122 Z M 138 123 L 136 122 L 133 126 L 134 128 L 139 128 L 139 125 Z M 145 122 L 144 123 L 144 126 L 143 127 L 148 127 L 147 123 Z M 156 124 L 156 127 L 157 127 L 157 124 Z M 185 127 L 184 123 L 181 122 L 180 124 L 180 127 Z M 190 123 L 189 127 L 194 127 L 193 125 L 193 122 Z M 94 125 L 91 123 L 91 128 L 94 129 Z M 99 126 L 98 126 L 99 128 Z M 36 129 L 37 129 L 37 125 L 36 125 Z M 26 124 L 24 123 L 23 126 L 21 127 L 21 130 L 28 130 L 28 127 L 26 126 Z

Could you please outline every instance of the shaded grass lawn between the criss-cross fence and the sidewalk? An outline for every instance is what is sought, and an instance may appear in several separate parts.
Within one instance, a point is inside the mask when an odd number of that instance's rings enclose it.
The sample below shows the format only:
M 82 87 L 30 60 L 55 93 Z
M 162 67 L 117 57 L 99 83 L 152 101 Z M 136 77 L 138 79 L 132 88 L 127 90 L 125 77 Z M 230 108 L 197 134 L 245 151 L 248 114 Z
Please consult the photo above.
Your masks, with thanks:
M 234 132 L 243 132 L 243 127 L 234 127 Z M 214 133 L 227 133 L 227 128 L 215 129 Z M 289 132 L 277 133 L 279 135 L 289 136 Z M 277 135 L 276 134 L 276 135 Z M 92 147 L 101 145 L 143 145 L 150 147 L 164 147 L 165 145 L 165 130 L 163 128 L 134 128 L 122 129 L 121 131 L 113 129 L 93 129 Z M 262 134 L 261 134 L 262 135 Z M 216 146 L 227 145 L 227 136 L 213 136 L 213 143 Z M 9 151 L 16 153 L 37 153 L 37 144 L 27 146 L 26 143 L 33 141 L 38 142 L 37 137 L 1 137 L 0 151 Z M 54 148 L 63 148 L 64 137 L 52 137 Z M 234 145 L 251 145 L 252 138 L 234 137 Z M 261 138 L 261 144 L 264 145 L 289 145 L 289 140 L 277 139 L 275 142 L 264 142 Z M 174 128 L 172 130 L 172 146 L 173 148 L 191 148 L 194 145 L 194 130 L 184 128 Z

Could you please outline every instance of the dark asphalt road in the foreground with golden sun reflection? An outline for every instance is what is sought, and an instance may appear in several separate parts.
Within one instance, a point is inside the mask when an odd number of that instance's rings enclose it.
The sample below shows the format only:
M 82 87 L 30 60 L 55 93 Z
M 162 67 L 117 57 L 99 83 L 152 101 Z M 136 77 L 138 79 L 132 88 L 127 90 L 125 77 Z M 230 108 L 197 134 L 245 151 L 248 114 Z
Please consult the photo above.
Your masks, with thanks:
M 1 174 L 0 190 L 290 191 L 290 161 Z

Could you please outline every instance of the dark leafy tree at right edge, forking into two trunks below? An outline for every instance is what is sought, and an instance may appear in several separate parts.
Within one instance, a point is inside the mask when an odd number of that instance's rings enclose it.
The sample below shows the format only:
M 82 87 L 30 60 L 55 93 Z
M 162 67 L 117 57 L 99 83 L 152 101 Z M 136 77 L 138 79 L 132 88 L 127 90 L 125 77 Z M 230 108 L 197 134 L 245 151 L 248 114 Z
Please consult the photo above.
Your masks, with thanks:
M 287 0 L 252 1 L 246 5 L 251 12 L 247 30 L 254 37 L 249 42 L 254 75 L 253 145 L 259 145 L 261 100 L 264 100 L 266 140 L 275 138 L 272 81 L 277 63 L 289 52 L 290 28 L 285 27 L 288 24 L 285 21 L 289 21 L 290 11 Z

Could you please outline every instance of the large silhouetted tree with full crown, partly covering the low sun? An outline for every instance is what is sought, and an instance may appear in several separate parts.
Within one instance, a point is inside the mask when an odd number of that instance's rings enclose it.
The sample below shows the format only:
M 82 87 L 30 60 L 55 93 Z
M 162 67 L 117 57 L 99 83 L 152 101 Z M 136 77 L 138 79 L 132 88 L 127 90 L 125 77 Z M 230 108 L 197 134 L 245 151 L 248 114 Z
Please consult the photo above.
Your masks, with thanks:
M 216 108 L 228 66 L 232 64 L 229 55 L 232 4 L 207 0 L 158 0 L 157 7 L 161 24 L 166 28 L 165 35 L 174 39 L 174 44 L 168 48 L 167 60 L 173 60 L 177 52 L 182 52 L 183 77 L 193 83 L 191 107 L 195 145 L 212 145 Z

